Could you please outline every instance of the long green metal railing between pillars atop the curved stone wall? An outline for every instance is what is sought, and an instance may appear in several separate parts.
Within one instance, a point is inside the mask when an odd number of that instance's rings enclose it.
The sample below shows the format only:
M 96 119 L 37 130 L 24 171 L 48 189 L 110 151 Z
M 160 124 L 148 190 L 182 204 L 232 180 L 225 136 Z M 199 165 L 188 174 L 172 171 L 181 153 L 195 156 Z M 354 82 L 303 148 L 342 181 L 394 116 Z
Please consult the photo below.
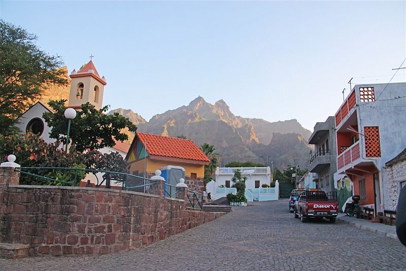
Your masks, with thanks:
M 116 182 L 121 182 L 123 190 L 134 190 L 134 189 L 149 187 L 149 186 L 155 185 L 157 183 L 156 180 L 144 178 L 144 177 L 137 176 L 137 175 L 132 175 L 132 174 L 125 173 L 125 172 L 99 170 L 99 169 L 84 169 L 84 168 L 69 168 L 69 167 L 19 167 L 19 168 L 15 168 L 14 170 L 20 172 L 20 174 L 31 176 L 31 177 L 36 177 L 39 179 L 44 179 L 44 180 L 52 182 L 56 185 L 62 184 L 62 185 L 68 185 L 68 186 L 77 186 L 78 182 L 81 181 L 81 179 L 78 179 L 78 175 L 79 175 L 80 171 L 84 171 L 85 173 L 92 173 L 96 178 L 96 182 L 97 182 L 96 187 L 100 187 L 101 185 L 103 185 L 106 182 L 106 188 L 110 188 L 110 182 L 112 180 L 114 180 Z M 36 170 L 37 173 L 28 172 L 30 170 Z M 66 174 L 73 173 L 72 174 L 73 179 L 63 179 L 62 180 L 62 179 L 44 176 L 44 175 L 49 175 L 49 173 L 55 173 L 55 174 L 59 173 L 62 176 L 61 172 L 65 172 Z M 103 180 L 101 180 L 101 182 L 99 182 L 99 179 L 96 175 L 97 173 L 102 173 L 102 174 L 104 173 Z M 144 184 L 131 186 L 131 183 L 134 183 L 133 180 L 137 179 L 137 178 L 142 179 L 142 182 Z M 51 185 L 52 185 L 52 183 L 51 183 Z

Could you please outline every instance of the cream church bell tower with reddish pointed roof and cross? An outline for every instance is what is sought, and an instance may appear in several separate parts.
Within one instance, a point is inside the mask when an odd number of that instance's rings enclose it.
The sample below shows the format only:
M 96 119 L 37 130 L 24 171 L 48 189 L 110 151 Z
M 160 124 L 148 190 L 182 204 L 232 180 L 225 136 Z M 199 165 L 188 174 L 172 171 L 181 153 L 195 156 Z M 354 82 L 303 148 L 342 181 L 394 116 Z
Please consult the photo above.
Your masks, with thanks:
M 87 102 L 97 110 L 103 106 L 103 91 L 107 82 L 104 76 L 100 78 L 91 58 L 78 72 L 73 70 L 70 77 L 72 81 L 68 107 L 80 109 Z

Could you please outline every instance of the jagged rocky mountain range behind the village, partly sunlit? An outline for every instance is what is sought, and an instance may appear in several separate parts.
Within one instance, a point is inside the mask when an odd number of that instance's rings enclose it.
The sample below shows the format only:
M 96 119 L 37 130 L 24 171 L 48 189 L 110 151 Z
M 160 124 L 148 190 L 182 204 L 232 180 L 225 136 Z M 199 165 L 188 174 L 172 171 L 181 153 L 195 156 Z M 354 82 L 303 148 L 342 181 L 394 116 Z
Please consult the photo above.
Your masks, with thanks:
M 278 168 L 299 165 L 307 168 L 312 147 L 307 139 L 311 132 L 296 119 L 270 123 L 261 118 L 235 116 L 219 100 L 214 105 L 197 97 L 187 106 L 154 115 L 150 121 L 132 110 L 118 112 L 137 125 L 139 132 L 163 136 L 185 136 L 198 146 L 209 143 L 221 157 L 221 165 L 231 161 L 253 161 Z

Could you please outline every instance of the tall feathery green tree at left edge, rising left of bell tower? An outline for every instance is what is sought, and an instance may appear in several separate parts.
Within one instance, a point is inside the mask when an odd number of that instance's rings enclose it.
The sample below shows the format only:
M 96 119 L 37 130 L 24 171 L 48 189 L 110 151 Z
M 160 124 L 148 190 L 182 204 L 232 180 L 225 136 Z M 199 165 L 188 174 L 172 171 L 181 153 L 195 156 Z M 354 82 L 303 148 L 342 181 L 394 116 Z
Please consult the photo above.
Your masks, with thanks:
M 17 118 L 42 94 L 46 84 L 66 84 L 59 56 L 41 51 L 37 37 L 0 20 L 0 134 L 12 131 Z

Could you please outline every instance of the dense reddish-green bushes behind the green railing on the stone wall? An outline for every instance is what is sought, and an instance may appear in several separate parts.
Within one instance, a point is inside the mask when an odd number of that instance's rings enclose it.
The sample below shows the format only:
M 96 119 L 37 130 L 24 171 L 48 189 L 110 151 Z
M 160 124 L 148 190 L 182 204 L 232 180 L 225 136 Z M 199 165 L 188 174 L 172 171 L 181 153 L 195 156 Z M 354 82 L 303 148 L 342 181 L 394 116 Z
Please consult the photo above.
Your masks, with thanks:
M 89 168 L 115 172 L 128 173 L 127 162 L 118 154 L 102 154 L 98 150 L 88 150 L 86 153 L 76 152 L 71 147 L 70 153 L 65 153 L 60 143 L 46 143 L 41 137 L 28 134 L 13 134 L 8 136 L 0 135 L 0 162 L 7 161 L 7 156 L 14 154 L 16 162 L 21 167 L 67 167 L 67 168 Z M 52 179 L 72 182 L 75 180 L 77 171 L 77 184 L 80 183 L 86 172 L 81 170 L 51 170 L 51 169 L 30 169 L 29 172 Z M 110 175 L 112 179 L 122 178 L 118 174 Z M 20 184 L 24 185 L 56 185 L 60 184 L 39 177 L 20 175 Z

